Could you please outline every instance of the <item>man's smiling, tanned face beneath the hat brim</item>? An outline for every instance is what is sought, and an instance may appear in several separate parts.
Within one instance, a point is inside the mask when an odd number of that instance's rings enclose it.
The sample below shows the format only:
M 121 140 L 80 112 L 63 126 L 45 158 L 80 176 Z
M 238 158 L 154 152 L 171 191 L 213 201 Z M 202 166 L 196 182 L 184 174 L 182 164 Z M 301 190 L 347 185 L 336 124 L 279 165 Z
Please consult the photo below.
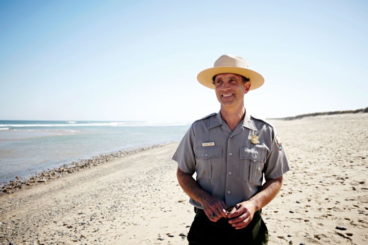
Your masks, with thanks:
M 249 88 L 250 82 L 243 83 L 240 75 L 232 73 L 216 75 L 215 92 L 221 106 L 244 106 L 244 94 Z

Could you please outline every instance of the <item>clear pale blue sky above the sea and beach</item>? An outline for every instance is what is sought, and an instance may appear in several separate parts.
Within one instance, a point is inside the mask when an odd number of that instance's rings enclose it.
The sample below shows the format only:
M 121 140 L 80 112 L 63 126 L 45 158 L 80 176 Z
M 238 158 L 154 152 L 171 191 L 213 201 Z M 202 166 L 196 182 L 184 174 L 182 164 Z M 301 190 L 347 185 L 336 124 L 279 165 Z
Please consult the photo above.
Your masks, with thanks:
M 368 1 L 0 1 L 0 120 L 192 122 L 244 57 L 261 118 L 368 106 Z

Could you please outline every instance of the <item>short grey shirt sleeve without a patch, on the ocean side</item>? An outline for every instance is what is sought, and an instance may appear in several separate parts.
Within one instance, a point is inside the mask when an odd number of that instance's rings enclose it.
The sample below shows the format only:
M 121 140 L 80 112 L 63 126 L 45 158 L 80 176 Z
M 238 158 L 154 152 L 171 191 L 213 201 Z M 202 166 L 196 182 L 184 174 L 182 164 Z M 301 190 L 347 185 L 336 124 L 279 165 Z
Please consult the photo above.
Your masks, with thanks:
M 176 149 L 172 159 L 178 163 L 178 167 L 184 173 L 193 175 L 195 173 L 195 154 L 193 150 L 194 131 L 193 125 L 184 135 Z

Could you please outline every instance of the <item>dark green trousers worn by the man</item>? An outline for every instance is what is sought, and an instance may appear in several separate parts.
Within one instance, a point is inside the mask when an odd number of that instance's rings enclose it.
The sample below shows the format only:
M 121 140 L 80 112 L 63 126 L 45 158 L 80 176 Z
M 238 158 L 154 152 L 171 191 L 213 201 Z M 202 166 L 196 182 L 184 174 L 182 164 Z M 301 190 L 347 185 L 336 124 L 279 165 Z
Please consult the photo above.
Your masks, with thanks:
M 212 222 L 202 209 L 195 208 L 196 215 L 188 233 L 189 245 L 244 244 L 267 245 L 268 230 L 261 212 L 257 211 L 247 227 L 236 230 L 225 218 Z

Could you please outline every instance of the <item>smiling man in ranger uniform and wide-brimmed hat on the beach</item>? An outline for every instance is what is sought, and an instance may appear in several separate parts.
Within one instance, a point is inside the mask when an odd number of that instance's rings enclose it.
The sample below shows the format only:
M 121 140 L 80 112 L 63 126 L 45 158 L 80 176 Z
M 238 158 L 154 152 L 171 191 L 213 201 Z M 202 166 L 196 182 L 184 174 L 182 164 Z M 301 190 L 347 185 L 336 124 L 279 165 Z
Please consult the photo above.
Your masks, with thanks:
M 245 59 L 223 55 L 197 79 L 215 89 L 221 107 L 192 124 L 173 156 L 196 213 L 189 244 L 267 244 L 261 208 L 290 166 L 275 129 L 244 108 L 244 95 L 264 78 Z

